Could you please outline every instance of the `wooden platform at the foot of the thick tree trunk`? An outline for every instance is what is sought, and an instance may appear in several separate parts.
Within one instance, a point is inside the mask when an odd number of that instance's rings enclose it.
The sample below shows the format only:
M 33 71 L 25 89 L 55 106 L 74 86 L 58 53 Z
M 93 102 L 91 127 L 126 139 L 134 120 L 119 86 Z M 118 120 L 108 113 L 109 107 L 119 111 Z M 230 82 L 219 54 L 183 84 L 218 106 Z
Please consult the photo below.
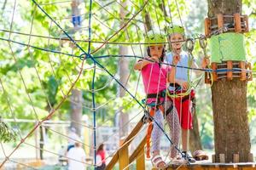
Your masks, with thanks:
M 153 167 L 152 170 L 157 170 L 159 168 Z M 248 162 L 248 163 L 210 163 L 210 162 L 196 162 L 191 163 L 190 165 L 170 165 L 165 168 L 165 170 L 215 170 L 215 169 L 223 169 L 223 170 L 256 170 L 256 162 Z

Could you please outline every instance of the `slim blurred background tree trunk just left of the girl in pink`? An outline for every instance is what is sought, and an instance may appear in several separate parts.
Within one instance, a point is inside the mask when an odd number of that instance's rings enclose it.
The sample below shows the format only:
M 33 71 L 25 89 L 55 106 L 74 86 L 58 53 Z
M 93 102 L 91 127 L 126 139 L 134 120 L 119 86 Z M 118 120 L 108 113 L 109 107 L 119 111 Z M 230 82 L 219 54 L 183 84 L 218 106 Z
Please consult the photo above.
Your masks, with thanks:
M 120 23 L 120 27 L 123 27 L 125 24 L 125 15 L 127 14 L 127 12 L 125 11 L 125 7 L 127 7 L 127 1 L 126 0 L 122 0 L 120 2 L 122 5 L 120 7 L 120 13 L 119 13 L 119 17 L 122 20 L 122 22 Z M 126 29 L 126 28 L 125 28 Z M 125 34 L 125 31 L 124 31 Z M 126 37 L 126 36 L 125 36 Z M 120 45 L 119 46 L 119 54 L 120 55 L 125 55 L 128 54 L 128 48 L 125 46 Z M 119 58 L 119 77 L 120 77 L 120 82 L 126 87 L 126 82 L 127 79 L 129 77 L 129 60 L 126 59 L 125 57 L 121 57 Z M 122 98 L 125 96 L 125 90 L 119 86 L 119 98 Z M 129 116 L 127 113 L 124 113 L 122 111 L 122 107 L 119 108 L 119 138 L 123 138 L 125 137 L 125 135 L 128 134 L 128 126 L 127 126 L 127 122 L 129 121 Z M 126 125 L 125 125 L 126 124 Z

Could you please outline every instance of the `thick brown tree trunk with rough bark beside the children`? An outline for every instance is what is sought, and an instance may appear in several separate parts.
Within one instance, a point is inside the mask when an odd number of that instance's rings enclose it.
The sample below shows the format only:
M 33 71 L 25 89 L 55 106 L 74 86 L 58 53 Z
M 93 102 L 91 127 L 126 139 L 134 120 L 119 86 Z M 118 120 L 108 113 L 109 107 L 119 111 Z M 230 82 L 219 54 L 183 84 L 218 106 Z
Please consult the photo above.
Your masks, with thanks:
M 208 17 L 217 14 L 241 14 L 241 0 L 208 0 Z M 230 49 L 232 50 L 232 49 Z M 232 161 L 239 154 L 239 161 L 248 161 L 251 144 L 247 119 L 247 82 L 225 79 L 212 86 L 212 109 L 216 161 L 219 154 L 225 161 Z

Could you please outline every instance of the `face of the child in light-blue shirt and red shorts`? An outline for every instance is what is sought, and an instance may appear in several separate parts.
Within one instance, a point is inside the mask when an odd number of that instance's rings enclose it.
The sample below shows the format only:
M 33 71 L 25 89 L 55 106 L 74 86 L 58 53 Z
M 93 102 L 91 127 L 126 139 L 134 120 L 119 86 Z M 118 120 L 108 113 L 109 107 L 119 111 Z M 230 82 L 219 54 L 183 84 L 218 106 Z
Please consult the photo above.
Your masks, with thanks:
M 183 35 L 179 33 L 174 33 L 169 37 L 169 40 L 172 45 L 173 53 L 180 54 L 183 46 Z

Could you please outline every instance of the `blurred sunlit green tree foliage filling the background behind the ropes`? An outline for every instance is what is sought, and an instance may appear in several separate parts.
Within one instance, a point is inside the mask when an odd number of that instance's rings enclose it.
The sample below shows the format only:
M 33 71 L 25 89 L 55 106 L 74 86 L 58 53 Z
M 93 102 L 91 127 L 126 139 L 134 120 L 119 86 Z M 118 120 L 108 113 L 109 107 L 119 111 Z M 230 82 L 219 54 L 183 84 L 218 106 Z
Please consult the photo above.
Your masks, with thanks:
M 68 16 L 71 16 L 71 5 L 68 3 L 52 3 L 57 1 L 40 0 L 38 1 L 42 8 L 53 17 L 56 22 L 69 33 L 74 39 L 79 39 L 77 43 L 84 51 L 88 52 L 88 21 L 89 21 L 89 3 L 82 3 L 81 14 L 83 15 L 84 28 L 79 31 L 73 30 L 73 24 Z M 165 4 L 163 4 L 163 2 Z M 47 5 L 51 3 L 50 5 Z M 157 29 L 164 30 L 166 26 L 172 24 L 182 25 L 186 28 L 187 37 L 197 37 L 203 34 L 203 20 L 207 16 L 207 3 L 205 1 L 177 0 L 170 1 L 150 0 L 143 8 L 140 14 L 137 12 L 143 7 L 145 1 L 136 0 L 128 3 L 125 8 L 124 19 L 121 20 L 120 5 L 115 1 L 95 1 L 92 3 L 91 18 L 91 49 L 92 57 L 103 55 L 118 55 L 119 43 L 123 42 L 143 42 L 144 41 L 144 15 L 150 15 L 150 23 Z M 11 14 L 13 10 L 11 2 L 7 1 L 6 8 L 0 11 L 1 29 L 9 30 L 11 25 Z M 162 6 L 166 6 L 166 14 L 162 11 Z M 178 8 L 177 8 L 178 5 Z M 253 71 L 256 71 L 256 52 L 255 52 L 255 8 L 256 3 L 253 1 L 243 0 L 244 13 L 250 17 L 251 31 L 246 34 L 245 47 L 247 49 L 247 60 L 254 62 Z M 131 19 L 135 14 L 137 16 L 131 20 L 125 29 L 119 31 L 120 27 Z M 172 17 L 170 17 L 172 16 Z M 67 18 L 67 19 L 66 19 Z M 0 86 L 0 111 L 4 118 L 20 119 L 42 119 L 49 114 L 51 108 L 56 107 L 65 99 L 71 86 L 83 91 L 83 114 L 92 118 L 92 77 L 94 62 L 92 59 L 82 60 L 71 57 L 66 54 L 81 55 L 84 54 L 79 48 L 74 48 L 73 42 L 60 41 L 59 39 L 49 39 L 45 37 L 67 37 L 60 28 L 49 20 L 32 1 L 20 0 L 17 2 L 15 11 L 15 20 L 12 23 L 12 31 L 18 31 L 26 34 L 34 34 L 43 37 L 29 37 L 15 33 L 0 31 L 0 37 L 9 38 L 17 42 L 28 44 L 21 46 L 14 42 L 1 41 L 0 43 L 0 79 L 3 85 Z M 119 31 L 118 33 L 115 32 Z M 112 37 L 112 38 L 111 38 Z M 111 39 L 109 39 L 111 38 Z M 102 46 L 102 42 L 108 40 L 108 44 Z M 33 45 L 39 48 L 59 51 L 66 54 L 49 53 L 44 50 L 29 47 Z M 72 47 L 71 47 L 72 46 Z M 143 45 L 124 45 L 128 48 L 128 54 L 143 57 Z M 208 48 L 207 48 L 208 50 Z M 198 42 L 195 43 L 193 52 L 195 59 L 200 60 L 202 49 Z M 118 77 L 119 58 L 108 57 L 96 59 L 101 65 Z M 137 59 L 129 58 L 129 82 L 127 88 L 131 94 L 136 95 L 137 99 L 143 99 L 143 85 L 138 84 L 141 81 L 139 73 L 133 71 L 134 62 Z M 79 77 L 79 71 L 83 66 L 84 70 Z M 91 69 L 90 69 L 91 68 Z M 131 72 L 130 72 L 131 71 Z M 73 84 L 79 77 L 78 82 Z M 96 118 L 99 124 L 105 123 L 110 119 L 108 124 L 113 124 L 113 117 L 120 108 L 126 113 L 138 110 L 137 103 L 131 99 L 129 94 L 120 99 L 119 85 L 112 77 L 96 65 Z M 118 78 L 119 79 L 119 78 Z M 249 82 L 247 88 L 248 115 L 251 122 L 255 121 L 255 101 L 256 101 L 256 84 Z M 213 122 L 212 122 L 212 105 L 209 88 L 200 87 L 197 89 L 197 113 L 200 120 L 201 139 L 205 146 L 210 145 L 213 140 Z M 70 117 L 70 97 L 67 96 L 60 109 L 55 112 L 53 119 L 68 120 Z M 99 116 L 100 115 L 100 116 Z M 19 126 L 21 131 L 31 129 L 32 125 L 23 124 Z

